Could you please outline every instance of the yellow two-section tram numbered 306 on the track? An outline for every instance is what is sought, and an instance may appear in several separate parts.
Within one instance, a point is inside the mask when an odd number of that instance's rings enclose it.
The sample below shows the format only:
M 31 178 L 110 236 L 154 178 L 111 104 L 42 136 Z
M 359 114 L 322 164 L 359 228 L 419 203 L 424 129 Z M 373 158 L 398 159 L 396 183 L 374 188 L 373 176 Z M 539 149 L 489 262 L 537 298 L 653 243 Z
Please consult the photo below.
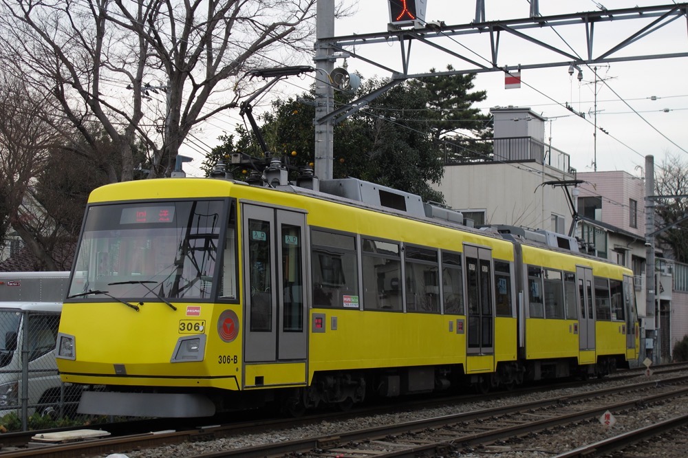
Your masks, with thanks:
M 328 186 L 340 197 L 192 178 L 94 190 L 58 335 L 63 381 L 94 387 L 80 411 L 299 411 L 637 358 L 630 270 Z

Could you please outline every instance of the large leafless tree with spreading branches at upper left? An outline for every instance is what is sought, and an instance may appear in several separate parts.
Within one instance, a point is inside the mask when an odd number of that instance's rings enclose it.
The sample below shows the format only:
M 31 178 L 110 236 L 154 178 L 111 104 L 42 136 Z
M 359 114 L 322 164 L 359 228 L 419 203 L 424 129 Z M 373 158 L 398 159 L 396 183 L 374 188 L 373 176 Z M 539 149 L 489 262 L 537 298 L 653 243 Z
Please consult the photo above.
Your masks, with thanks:
M 132 179 L 139 140 L 151 176 L 161 176 L 194 127 L 237 106 L 247 68 L 266 65 L 268 52 L 295 59 L 306 51 L 315 3 L 2 0 L 0 59 L 50 94 L 96 161 L 94 125 L 105 130 L 121 156 L 110 181 Z

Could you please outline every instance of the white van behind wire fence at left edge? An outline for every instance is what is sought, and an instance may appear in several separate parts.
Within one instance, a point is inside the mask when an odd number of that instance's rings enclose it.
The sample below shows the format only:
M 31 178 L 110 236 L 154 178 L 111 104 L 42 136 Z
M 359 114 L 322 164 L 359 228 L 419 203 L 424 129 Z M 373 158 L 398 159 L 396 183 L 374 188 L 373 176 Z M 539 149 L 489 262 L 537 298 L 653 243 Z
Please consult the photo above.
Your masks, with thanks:
M 69 272 L 0 272 L 0 417 L 57 416 L 78 401 L 54 352 L 68 282 Z

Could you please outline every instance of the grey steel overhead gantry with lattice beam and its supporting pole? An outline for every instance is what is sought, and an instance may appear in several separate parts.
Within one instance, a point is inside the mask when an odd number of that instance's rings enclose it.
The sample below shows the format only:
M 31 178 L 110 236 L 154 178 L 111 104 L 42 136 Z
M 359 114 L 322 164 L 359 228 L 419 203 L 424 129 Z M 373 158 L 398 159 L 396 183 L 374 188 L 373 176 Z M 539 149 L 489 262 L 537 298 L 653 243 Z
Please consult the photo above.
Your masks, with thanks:
M 319 0 L 319 33 L 316 40 L 316 54 L 314 61 L 321 70 L 323 76 L 319 76 L 316 84 L 316 98 L 318 106 L 316 111 L 316 174 L 321 178 L 332 177 L 332 164 L 325 166 L 322 161 L 332 160 L 332 126 L 341 122 L 347 116 L 352 115 L 367 105 L 369 102 L 383 94 L 387 89 L 394 87 L 409 78 L 424 78 L 427 76 L 477 74 L 486 72 L 510 72 L 513 70 L 536 69 L 546 67 L 570 67 L 571 65 L 590 65 L 599 63 L 613 63 L 622 61 L 640 61 L 658 58 L 676 58 L 688 56 L 688 34 L 674 36 L 673 47 L 676 52 L 658 50 L 654 54 L 634 54 L 628 51 L 628 47 L 645 39 L 647 36 L 665 28 L 674 21 L 686 21 L 688 3 L 672 3 L 664 6 L 646 6 L 623 8 L 616 10 L 596 10 L 589 12 L 577 12 L 571 14 L 557 14 L 553 16 L 539 15 L 537 0 L 531 0 L 530 17 L 523 19 L 507 19 L 499 21 L 484 21 L 484 0 L 476 0 L 475 21 L 469 24 L 446 25 L 442 21 L 433 21 L 420 24 L 421 27 L 398 28 L 390 24 L 386 32 L 350 35 L 328 36 L 334 32 L 334 11 L 330 8 L 321 8 L 321 4 L 331 1 Z M 321 15 L 321 13 L 323 15 Z M 330 17 L 330 14 L 332 16 Z M 642 19 L 643 21 L 638 21 Z M 635 23 L 630 20 L 636 20 Z M 607 26 L 611 27 L 620 21 L 629 21 L 630 25 L 639 23 L 632 32 L 626 32 L 625 36 L 614 40 L 614 45 L 598 50 L 595 47 L 597 34 L 604 34 Z M 688 23 L 687 23 L 688 26 Z M 555 31 L 555 39 L 550 41 L 539 36 L 541 30 L 551 29 Z M 563 28 L 579 28 L 579 36 L 574 44 L 584 43 L 584 48 L 579 45 L 577 49 L 570 45 L 559 34 Z M 602 29 L 602 30 L 601 30 Z M 688 29 L 683 28 L 686 32 Z M 546 53 L 519 52 L 520 47 L 515 47 L 515 52 L 510 50 L 508 55 L 500 55 L 499 45 L 504 36 L 508 36 L 523 44 L 530 43 Z M 479 50 L 488 50 L 482 55 L 474 52 L 464 43 L 469 39 L 477 43 L 473 47 Z M 482 43 L 481 43 L 482 42 Z M 374 58 L 367 57 L 365 50 L 370 45 L 398 44 L 400 51 L 400 63 L 397 67 L 379 63 Z M 431 48 L 451 56 L 453 58 L 453 70 L 444 72 L 411 72 L 411 47 L 415 45 L 414 52 Z M 420 50 L 416 49 L 420 48 Z M 532 46 L 531 48 L 532 49 Z M 472 54 L 472 55 L 470 55 Z M 535 54 L 535 55 L 534 55 Z M 349 105 L 333 108 L 332 85 L 327 84 L 327 74 L 332 70 L 334 61 L 338 58 L 358 59 L 370 65 L 374 65 L 389 74 L 389 83 L 380 89 L 367 94 Z M 506 63 L 506 60 L 510 64 Z

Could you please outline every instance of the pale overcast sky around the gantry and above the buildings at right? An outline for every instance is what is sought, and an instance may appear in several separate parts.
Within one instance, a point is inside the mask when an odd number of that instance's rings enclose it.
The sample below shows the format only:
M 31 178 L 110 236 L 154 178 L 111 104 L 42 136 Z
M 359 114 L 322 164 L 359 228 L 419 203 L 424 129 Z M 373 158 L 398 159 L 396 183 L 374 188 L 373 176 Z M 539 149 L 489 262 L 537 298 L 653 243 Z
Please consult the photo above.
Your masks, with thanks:
M 389 22 L 387 1 L 367 0 L 356 3 L 356 12 L 348 18 L 335 21 L 335 35 L 365 34 L 384 32 Z M 628 1 L 592 0 L 539 2 L 540 14 L 565 14 L 599 10 L 603 6 L 609 10 L 629 8 Z M 668 5 L 671 1 L 634 1 L 632 6 Z M 530 4 L 526 0 L 485 0 L 486 20 L 520 19 L 528 17 Z M 471 23 L 475 17 L 475 1 L 427 0 L 427 21 L 444 21 L 447 25 Z M 649 21 L 648 21 L 649 22 Z M 616 21 L 596 28 L 594 53 L 616 45 L 648 22 L 641 19 Z M 568 25 L 557 28 L 561 37 L 551 28 L 528 32 L 544 39 L 557 47 L 569 45 L 580 55 L 585 55 L 585 27 Z M 488 43 L 485 36 L 461 39 L 446 39 L 440 43 L 456 52 L 470 55 L 475 61 L 486 63 L 489 58 Z M 457 43 L 460 42 L 460 43 Z M 502 34 L 499 47 L 499 65 L 518 65 L 534 62 L 564 61 L 563 56 L 554 56 L 535 45 L 524 41 L 509 39 Z M 427 72 L 431 67 L 444 69 L 448 63 L 462 67 L 448 54 L 430 52 L 427 48 L 411 48 L 410 72 Z M 415 51 L 415 52 L 414 52 Z M 688 51 L 688 27 L 685 17 L 667 25 L 663 30 L 654 32 L 638 40 L 623 55 L 659 54 L 662 52 Z M 401 69 L 400 47 L 398 44 L 363 45 L 356 52 L 376 62 L 394 69 Z M 473 54 L 471 54 L 473 53 Z M 482 57 L 481 57 L 482 56 Z M 343 60 L 336 62 L 341 67 Z M 308 63 L 307 63 L 308 64 Z M 350 72 L 359 72 L 363 78 L 373 76 L 387 77 L 382 69 L 369 65 L 359 59 L 347 59 Z M 310 63 L 312 65 L 312 63 Z M 645 155 L 652 154 L 660 165 L 667 153 L 678 155 L 688 162 L 688 58 L 657 59 L 612 63 L 598 69 L 597 125 L 608 131 L 605 135 L 597 131 L 596 164 L 598 171 L 625 170 L 640 175 L 636 166 L 644 166 Z M 487 91 L 487 100 L 477 107 L 488 113 L 490 107 L 509 105 L 531 107 L 550 121 L 546 122 L 546 142 L 570 154 L 571 166 L 578 171 L 592 171 L 595 142 L 594 126 L 591 123 L 594 112 L 594 73 L 583 67 L 583 81 L 579 83 L 576 74 L 570 77 L 568 68 L 529 69 L 522 72 L 520 89 L 505 89 L 504 74 L 491 72 L 478 74 L 475 89 Z M 281 90 L 301 91 L 308 89 L 312 78 L 294 80 Z M 616 94 L 614 94 L 616 93 Z M 652 100 L 655 97 L 656 100 Z M 568 102 L 574 109 L 586 113 L 588 120 L 572 115 L 561 105 Z M 637 113 L 634 113 L 634 110 Z M 234 120 L 234 121 L 233 121 Z M 230 114 L 228 123 L 239 122 L 237 113 Z M 217 132 L 208 130 L 208 144 Z M 335 140 L 336 141 L 336 138 Z M 197 147 L 203 147 L 197 145 Z M 683 151 L 685 150 L 685 151 Z M 195 165 L 200 161 L 194 161 Z M 195 167 L 194 167 L 195 168 Z M 193 171 L 192 171 L 193 173 Z

